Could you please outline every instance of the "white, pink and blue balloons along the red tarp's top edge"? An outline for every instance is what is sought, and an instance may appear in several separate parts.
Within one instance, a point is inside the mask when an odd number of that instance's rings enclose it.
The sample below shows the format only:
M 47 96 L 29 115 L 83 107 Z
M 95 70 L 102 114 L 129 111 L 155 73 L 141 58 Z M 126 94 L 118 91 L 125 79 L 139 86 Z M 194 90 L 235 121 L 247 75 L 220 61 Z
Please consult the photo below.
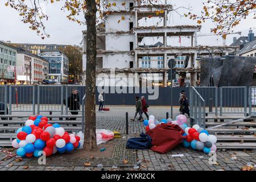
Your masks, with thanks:
M 172 123 L 174 125 L 179 125 L 183 130 L 186 127 L 188 127 L 188 125 L 186 124 L 187 117 L 185 117 L 185 115 L 183 114 L 177 115 L 176 121 L 172 121 L 171 118 L 168 118 L 168 119 L 161 119 L 161 121 L 159 122 L 157 119 L 155 119 L 154 115 L 150 115 L 148 119 L 145 119 L 143 121 L 144 126 L 146 126 L 146 129 L 145 129 L 146 131 L 154 129 L 157 125 L 161 123 Z

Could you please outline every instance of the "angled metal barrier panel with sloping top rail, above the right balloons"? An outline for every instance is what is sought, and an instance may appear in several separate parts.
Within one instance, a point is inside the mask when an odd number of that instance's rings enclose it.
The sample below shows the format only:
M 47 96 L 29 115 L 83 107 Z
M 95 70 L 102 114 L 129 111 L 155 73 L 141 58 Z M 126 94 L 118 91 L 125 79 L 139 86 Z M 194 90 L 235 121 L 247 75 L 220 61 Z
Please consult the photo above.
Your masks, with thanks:
M 205 100 L 193 86 L 189 88 L 189 105 L 192 124 L 205 128 Z

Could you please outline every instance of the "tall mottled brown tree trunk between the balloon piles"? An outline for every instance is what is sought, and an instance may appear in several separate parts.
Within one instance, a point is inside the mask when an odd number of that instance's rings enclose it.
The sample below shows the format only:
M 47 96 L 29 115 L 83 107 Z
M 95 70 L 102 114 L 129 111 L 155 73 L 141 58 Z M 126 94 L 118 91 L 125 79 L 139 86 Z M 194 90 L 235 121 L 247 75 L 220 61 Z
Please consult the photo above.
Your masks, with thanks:
M 84 150 L 97 148 L 96 140 L 96 2 L 86 0 L 86 102 L 85 102 L 85 131 Z

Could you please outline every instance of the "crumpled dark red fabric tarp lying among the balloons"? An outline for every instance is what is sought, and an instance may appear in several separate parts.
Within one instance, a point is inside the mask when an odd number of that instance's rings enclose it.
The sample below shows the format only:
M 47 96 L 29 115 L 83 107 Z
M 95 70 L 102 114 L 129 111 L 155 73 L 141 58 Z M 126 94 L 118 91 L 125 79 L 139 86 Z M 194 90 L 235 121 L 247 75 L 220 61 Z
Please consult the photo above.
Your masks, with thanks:
M 184 131 L 178 125 L 160 124 L 154 129 L 146 132 L 152 138 L 151 150 L 162 154 L 172 150 L 177 144 L 181 143 Z

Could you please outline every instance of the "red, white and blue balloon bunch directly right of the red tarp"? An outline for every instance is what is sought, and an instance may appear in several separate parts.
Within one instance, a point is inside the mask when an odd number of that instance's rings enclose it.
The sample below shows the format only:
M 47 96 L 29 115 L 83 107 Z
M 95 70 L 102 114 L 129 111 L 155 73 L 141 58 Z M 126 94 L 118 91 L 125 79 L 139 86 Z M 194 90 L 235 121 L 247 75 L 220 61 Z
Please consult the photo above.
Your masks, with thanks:
M 205 154 L 210 151 L 216 152 L 217 137 L 215 135 L 209 135 L 208 131 L 200 127 L 199 125 L 193 125 L 192 128 L 186 127 L 183 134 L 186 139 L 183 141 L 184 147 L 192 147 L 195 150 L 203 150 Z

